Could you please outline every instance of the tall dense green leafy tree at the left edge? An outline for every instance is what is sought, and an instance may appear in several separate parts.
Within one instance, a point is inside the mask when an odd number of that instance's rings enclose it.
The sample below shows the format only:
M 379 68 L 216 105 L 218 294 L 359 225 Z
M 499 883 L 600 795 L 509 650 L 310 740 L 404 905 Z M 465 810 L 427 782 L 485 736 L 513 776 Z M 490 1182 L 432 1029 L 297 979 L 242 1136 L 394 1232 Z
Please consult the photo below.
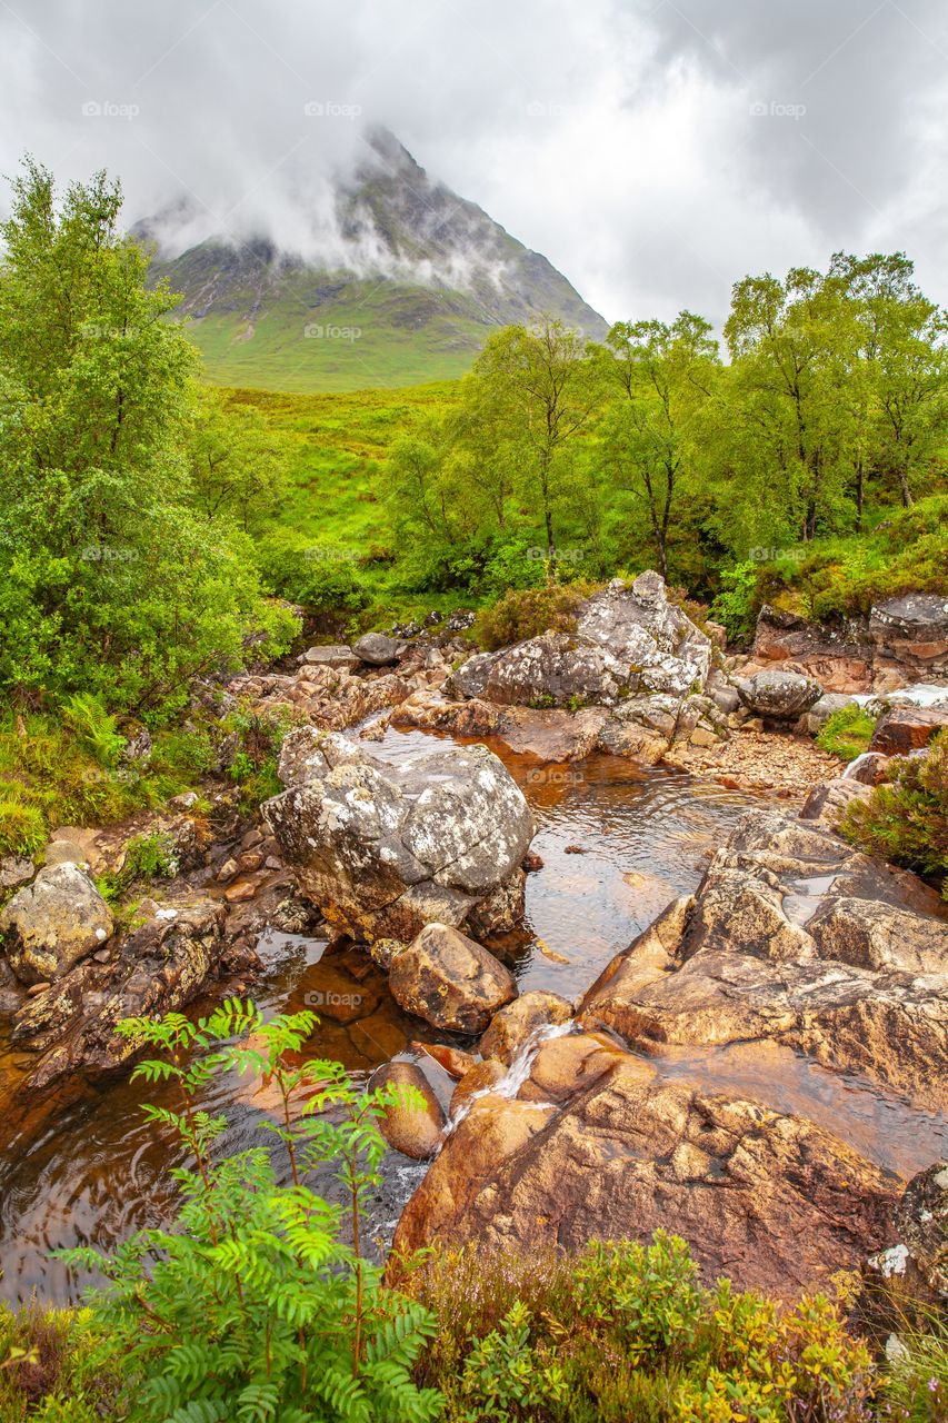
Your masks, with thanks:
M 195 518 L 196 356 L 98 174 L 57 203 L 33 162 L 0 226 L 0 687 L 161 714 L 285 646 L 253 546 Z

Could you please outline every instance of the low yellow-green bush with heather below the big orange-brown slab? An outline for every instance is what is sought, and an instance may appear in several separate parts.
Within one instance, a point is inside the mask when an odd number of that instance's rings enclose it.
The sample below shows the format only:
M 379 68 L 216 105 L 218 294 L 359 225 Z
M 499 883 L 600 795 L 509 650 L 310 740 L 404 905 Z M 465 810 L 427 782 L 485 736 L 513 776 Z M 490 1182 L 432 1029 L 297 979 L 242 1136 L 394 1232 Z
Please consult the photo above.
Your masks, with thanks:
M 826 1298 L 707 1289 L 662 1231 L 572 1261 L 436 1251 L 407 1288 L 440 1321 L 416 1377 L 446 1423 L 857 1423 L 878 1382 Z

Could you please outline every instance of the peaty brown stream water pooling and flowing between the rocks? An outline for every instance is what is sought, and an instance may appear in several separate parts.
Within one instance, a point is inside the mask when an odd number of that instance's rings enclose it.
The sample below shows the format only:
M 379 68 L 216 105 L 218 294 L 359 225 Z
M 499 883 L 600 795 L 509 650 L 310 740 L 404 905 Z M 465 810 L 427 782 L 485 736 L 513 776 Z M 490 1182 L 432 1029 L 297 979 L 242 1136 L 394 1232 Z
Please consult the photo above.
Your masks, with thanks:
M 367 750 L 406 763 L 431 750 L 423 731 L 389 730 Z M 490 744 L 490 743 L 488 743 Z M 678 895 L 696 888 L 707 859 L 739 817 L 762 797 L 730 791 L 668 768 L 642 768 L 594 756 L 582 766 L 538 766 L 501 751 L 537 821 L 532 850 L 542 858 L 527 877 L 527 924 L 498 949 L 521 992 L 547 988 L 576 998 Z M 581 851 L 581 852 L 576 852 Z M 384 975 L 356 948 L 268 931 L 259 946 L 265 973 L 255 1002 L 265 1015 L 313 1007 L 320 1016 L 309 1054 L 344 1063 L 367 1079 L 413 1043 L 446 1042 L 391 999 Z M 208 1007 L 208 1003 L 195 1005 Z M 142 1225 L 167 1222 L 174 1208 L 168 1167 L 179 1164 L 174 1143 L 141 1114 L 161 1093 L 128 1080 L 70 1081 L 37 1104 L 14 1104 L 28 1054 L 9 1046 L 0 1017 L 0 1298 L 33 1291 L 51 1301 L 78 1294 L 57 1247 L 105 1248 Z M 458 1039 L 461 1046 L 470 1046 Z M 453 1083 L 426 1059 L 447 1101 Z M 702 1086 L 736 1089 L 780 1110 L 800 1110 L 834 1130 L 880 1165 L 904 1175 L 948 1151 L 948 1120 L 855 1079 L 830 1073 L 789 1049 L 737 1046 L 673 1050 L 660 1072 Z M 248 1079 L 218 1080 L 202 1106 L 226 1116 L 222 1148 L 262 1140 L 265 1101 Z M 383 1185 L 370 1202 L 370 1235 L 384 1248 L 401 1205 L 424 1165 L 389 1154 Z M 332 1195 L 332 1183 L 312 1183 Z

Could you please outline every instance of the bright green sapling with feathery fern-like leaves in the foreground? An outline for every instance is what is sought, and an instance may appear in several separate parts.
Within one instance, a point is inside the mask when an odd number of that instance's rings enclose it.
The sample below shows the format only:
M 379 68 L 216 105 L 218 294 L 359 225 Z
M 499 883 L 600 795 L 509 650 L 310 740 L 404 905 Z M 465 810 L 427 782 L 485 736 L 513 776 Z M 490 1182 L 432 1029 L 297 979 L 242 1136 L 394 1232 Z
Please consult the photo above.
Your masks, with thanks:
M 137 1047 L 158 1050 L 134 1076 L 168 1084 L 177 1104 L 145 1111 L 195 1163 L 172 1173 L 184 1197 L 174 1229 L 139 1231 L 111 1257 L 60 1252 L 108 1281 L 88 1295 L 95 1358 L 121 1369 L 120 1402 L 132 1423 L 423 1423 L 440 1410 L 437 1393 L 410 1372 L 434 1333 L 430 1313 L 384 1289 L 360 1252 L 363 1200 L 386 1150 L 377 1118 L 410 1094 L 364 1093 L 339 1063 L 300 1062 L 315 1026 L 313 1013 L 263 1023 L 236 1000 L 198 1023 L 171 1013 L 120 1025 Z M 245 1035 L 245 1046 L 228 1044 Z M 199 1093 L 228 1070 L 270 1084 L 270 1131 L 290 1184 L 278 1185 L 263 1147 L 215 1161 L 225 1118 L 204 1111 Z M 346 1217 L 305 1184 L 323 1163 L 344 1181 Z M 343 1218 L 353 1245 L 340 1238 Z

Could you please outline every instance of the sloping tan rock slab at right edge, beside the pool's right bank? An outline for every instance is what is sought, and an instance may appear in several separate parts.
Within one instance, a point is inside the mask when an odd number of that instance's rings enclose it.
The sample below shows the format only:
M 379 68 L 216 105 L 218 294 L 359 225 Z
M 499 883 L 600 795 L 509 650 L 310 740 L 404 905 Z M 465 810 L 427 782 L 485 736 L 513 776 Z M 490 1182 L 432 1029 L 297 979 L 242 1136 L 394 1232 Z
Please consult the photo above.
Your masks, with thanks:
M 771 1039 L 944 1107 L 944 905 L 821 827 L 752 811 L 578 1016 L 645 1049 Z

